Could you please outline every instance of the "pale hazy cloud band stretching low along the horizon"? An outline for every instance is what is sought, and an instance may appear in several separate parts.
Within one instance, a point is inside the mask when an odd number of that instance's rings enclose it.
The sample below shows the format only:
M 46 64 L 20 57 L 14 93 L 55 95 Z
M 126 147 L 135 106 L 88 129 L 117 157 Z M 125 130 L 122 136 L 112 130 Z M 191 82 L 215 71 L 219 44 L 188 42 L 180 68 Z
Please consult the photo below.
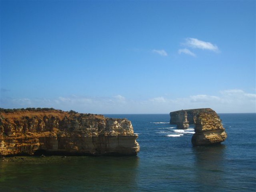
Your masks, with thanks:
M 207 94 L 166 98 L 163 96 L 132 100 L 124 96 L 83 97 L 69 96 L 57 99 L 1 99 L 2 108 L 55 108 L 80 113 L 169 113 L 189 108 L 212 108 L 217 113 L 256 113 L 256 94 L 243 90 L 222 90 L 218 96 Z

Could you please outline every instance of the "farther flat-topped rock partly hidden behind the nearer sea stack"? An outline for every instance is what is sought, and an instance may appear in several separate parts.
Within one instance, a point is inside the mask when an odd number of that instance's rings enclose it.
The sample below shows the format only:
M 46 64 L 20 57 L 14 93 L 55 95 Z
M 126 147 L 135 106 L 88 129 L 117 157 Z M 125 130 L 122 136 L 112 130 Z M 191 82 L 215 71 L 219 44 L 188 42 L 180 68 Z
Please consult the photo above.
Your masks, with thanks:
M 189 125 L 195 124 L 195 117 L 198 113 L 201 112 L 211 112 L 213 111 L 210 108 L 201 108 L 201 109 L 187 109 L 187 110 L 180 110 L 180 111 L 173 111 L 170 113 L 171 120 L 170 124 L 177 125 L 179 129 L 187 129 Z

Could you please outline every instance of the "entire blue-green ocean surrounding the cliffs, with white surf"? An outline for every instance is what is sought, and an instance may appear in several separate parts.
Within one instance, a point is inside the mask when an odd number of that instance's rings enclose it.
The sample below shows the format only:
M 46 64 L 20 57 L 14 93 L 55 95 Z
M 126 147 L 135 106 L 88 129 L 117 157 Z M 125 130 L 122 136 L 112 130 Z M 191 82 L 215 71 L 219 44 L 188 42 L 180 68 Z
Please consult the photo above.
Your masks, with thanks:
M 136 157 L 12 157 L 0 160 L 0 192 L 255 192 L 256 113 L 218 114 L 221 145 L 193 147 L 193 126 L 169 114 L 105 115 L 131 120 Z

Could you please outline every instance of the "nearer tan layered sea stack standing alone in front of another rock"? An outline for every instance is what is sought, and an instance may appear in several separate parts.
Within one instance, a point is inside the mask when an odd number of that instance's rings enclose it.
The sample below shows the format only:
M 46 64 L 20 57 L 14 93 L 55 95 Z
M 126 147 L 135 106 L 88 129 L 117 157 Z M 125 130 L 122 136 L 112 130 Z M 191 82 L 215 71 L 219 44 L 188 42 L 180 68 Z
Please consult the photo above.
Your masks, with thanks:
M 215 145 L 226 138 L 227 133 L 215 111 L 201 112 L 195 116 L 195 134 L 192 136 L 192 145 Z

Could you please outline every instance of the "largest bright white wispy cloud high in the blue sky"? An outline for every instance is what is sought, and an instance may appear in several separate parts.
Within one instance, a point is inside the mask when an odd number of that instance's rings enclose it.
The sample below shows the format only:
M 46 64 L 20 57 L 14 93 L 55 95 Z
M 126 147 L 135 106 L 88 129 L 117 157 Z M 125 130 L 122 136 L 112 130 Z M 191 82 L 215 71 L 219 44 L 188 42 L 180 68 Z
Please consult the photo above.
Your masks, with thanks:
M 215 52 L 219 51 L 216 45 L 213 45 L 210 42 L 201 41 L 196 38 L 187 38 L 186 43 L 184 45 L 188 47 L 196 48 L 196 49 L 207 49 Z

